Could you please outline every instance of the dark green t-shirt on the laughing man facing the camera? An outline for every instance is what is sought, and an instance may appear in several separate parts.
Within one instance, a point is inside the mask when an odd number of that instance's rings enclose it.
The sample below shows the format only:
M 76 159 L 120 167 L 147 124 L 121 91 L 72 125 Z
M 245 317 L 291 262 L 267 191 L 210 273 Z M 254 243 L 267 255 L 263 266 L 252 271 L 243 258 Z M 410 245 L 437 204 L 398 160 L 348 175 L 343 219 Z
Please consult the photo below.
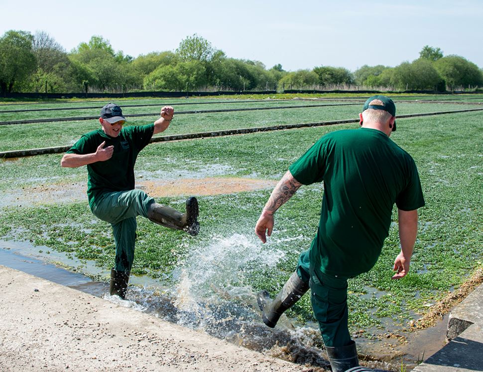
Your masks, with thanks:
M 134 189 L 134 164 L 137 154 L 149 144 L 154 124 L 122 128 L 118 137 L 108 136 L 102 129 L 86 133 L 67 153 L 92 154 L 106 141 L 105 148 L 114 146 L 111 159 L 87 165 L 87 195 L 89 205 L 105 192 Z

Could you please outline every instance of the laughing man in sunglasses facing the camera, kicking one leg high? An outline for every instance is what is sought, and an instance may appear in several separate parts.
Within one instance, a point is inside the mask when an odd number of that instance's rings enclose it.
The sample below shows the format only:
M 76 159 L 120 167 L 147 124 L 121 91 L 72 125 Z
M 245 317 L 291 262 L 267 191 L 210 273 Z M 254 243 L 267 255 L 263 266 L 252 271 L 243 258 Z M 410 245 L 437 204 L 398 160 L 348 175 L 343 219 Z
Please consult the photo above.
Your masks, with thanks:
M 116 243 L 116 262 L 111 270 L 110 293 L 125 298 L 134 260 L 136 216 L 169 228 L 197 235 L 198 200 L 186 200 L 186 213 L 158 204 L 134 188 L 134 164 L 151 137 L 168 128 L 174 109 L 165 106 L 153 124 L 123 127 L 121 107 L 109 103 L 101 110 L 101 128 L 86 133 L 62 157 L 61 166 L 87 166 L 89 206 L 98 218 L 111 223 Z

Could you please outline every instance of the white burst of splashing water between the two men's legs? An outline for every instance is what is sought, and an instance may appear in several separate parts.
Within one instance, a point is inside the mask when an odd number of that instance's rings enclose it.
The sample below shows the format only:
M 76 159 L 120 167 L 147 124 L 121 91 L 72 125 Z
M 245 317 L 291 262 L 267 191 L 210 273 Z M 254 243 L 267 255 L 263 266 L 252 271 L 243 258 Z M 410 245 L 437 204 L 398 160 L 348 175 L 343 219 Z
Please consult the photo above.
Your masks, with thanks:
M 173 272 L 178 279 L 173 293 L 178 323 L 206 329 L 234 317 L 253 318 L 255 294 L 250 286 L 239 284 L 241 275 L 253 262 L 275 265 L 283 255 L 279 250 L 261 250 L 244 234 L 214 236 Z

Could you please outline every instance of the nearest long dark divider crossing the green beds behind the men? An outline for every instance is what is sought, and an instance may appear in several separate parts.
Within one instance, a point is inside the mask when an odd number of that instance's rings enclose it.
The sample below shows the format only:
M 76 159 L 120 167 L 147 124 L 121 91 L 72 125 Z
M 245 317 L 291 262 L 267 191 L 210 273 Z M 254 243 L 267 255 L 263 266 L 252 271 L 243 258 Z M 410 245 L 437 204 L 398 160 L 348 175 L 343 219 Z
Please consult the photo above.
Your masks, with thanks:
M 424 114 L 398 115 L 397 120 L 405 119 L 405 118 L 416 118 L 416 117 L 420 117 L 420 116 L 455 114 L 455 113 L 463 113 L 463 112 L 471 112 L 471 111 L 483 111 L 483 108 L 482 109 L 458 110 L 458 111 L 429 112 L 429 113 L 424 113 Z M 317 122 L 317 123 L 281 124 L 281 125 L 274 125 L 274 126 L 270 126 L 270 127 L 227 129 L 227 130 L 223 130 L 223 131 L 214 131 L 214 132 L 201 132 L 201 133 L 178 134 L 178 135 L 171 135 L 171 136 L 159 136 L 159 137 L 153 137 L 150 142 L 154 143 L 154 142 L 181 141 L 181 140 L 191 140 L 191 139 L 196 139 L 196 138 L 233 136 L 233 135 L 256 133 L 256 132 L 270 132 L 270 131 L 280 131 L 280 130 L 294 129 L 294 128 L 321 127 L 321 126 L 326 126 L 326 125 L 349 124 L 349 123 L 359 123 L 359 119 L 332 120 L 332 121 Z M 0 158 L 3 158 L 3 159 L 10 158 L 11 159 L 11 158 L 22 158 L 22 157 L 35 156 L 35 155 L 59 154 L 59 153 L 66 152 L 70 148 L 71 148 L 71 146 L 59 146 L 59 147 L 48 147 L 48 148 L 30 149 L 30 150 L 2 151 L 2 152 L 0 152 Z

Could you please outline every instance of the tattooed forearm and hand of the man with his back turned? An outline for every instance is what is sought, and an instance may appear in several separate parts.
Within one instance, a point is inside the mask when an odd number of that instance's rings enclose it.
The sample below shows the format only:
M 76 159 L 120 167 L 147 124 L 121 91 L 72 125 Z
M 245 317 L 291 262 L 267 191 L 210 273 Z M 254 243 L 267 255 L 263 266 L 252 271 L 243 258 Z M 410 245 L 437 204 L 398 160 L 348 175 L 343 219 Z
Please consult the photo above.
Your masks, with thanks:
M 273 214 L 302 186 L 295 180 L 290 171 L 287 171 L 277 186 L 273 189 L 268 201 L 263 208 L 258 221 L 256 221 L 255 234 L 265 243 L 266 235 L 270 236 L 273 230 Z

